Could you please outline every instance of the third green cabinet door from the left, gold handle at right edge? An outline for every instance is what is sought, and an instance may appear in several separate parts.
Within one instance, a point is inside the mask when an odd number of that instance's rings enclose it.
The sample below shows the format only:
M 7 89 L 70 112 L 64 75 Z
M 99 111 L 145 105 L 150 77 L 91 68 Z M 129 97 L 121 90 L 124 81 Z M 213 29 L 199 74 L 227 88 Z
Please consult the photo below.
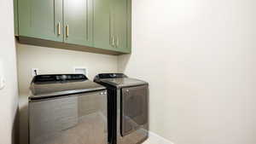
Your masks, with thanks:
M 94 47 L 113 49 L 112 0 L 94 0 Z

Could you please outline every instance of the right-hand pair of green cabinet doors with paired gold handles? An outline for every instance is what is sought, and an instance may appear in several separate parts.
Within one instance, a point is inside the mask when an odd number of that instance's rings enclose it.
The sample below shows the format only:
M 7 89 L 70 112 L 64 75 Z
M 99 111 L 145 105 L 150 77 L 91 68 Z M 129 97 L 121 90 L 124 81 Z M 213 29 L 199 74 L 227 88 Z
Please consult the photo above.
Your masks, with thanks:
M 94 46 L 131 52 L 131 0 L 94 0 Z

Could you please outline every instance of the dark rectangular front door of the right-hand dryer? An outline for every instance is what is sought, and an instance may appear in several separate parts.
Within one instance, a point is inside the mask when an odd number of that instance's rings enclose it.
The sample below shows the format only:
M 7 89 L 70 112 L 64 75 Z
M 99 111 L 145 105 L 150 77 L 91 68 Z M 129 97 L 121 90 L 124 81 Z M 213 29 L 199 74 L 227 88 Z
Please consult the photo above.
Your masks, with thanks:
M 121 135 L 125 136 L 148 124 L 148 85 L 123 88 L 121 94 Z

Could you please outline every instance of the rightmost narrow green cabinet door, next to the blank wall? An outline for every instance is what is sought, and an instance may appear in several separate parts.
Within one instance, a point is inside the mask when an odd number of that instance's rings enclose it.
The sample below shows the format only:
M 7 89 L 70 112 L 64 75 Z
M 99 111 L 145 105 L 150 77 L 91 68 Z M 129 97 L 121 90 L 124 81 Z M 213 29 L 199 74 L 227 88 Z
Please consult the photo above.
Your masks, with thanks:
M 131 52 L 131 0 L 114 0 L 115 47 Z

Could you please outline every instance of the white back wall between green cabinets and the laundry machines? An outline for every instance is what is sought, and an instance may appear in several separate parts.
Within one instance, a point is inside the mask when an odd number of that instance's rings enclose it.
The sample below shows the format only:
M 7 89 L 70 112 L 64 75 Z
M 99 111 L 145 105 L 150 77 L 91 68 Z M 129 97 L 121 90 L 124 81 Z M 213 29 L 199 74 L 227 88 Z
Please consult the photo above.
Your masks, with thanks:
M 117 72 L 118 57 L 67 49 L 54 49 L 17 43 L 20 92 L 20 144 L 27 144 L 27 102 L 32 68 L 39 74 L 73 73 L 73 67 L 86 67 L 90 80 L 98 73 Z M 2 143 L 0 143 L 2 144 Z

